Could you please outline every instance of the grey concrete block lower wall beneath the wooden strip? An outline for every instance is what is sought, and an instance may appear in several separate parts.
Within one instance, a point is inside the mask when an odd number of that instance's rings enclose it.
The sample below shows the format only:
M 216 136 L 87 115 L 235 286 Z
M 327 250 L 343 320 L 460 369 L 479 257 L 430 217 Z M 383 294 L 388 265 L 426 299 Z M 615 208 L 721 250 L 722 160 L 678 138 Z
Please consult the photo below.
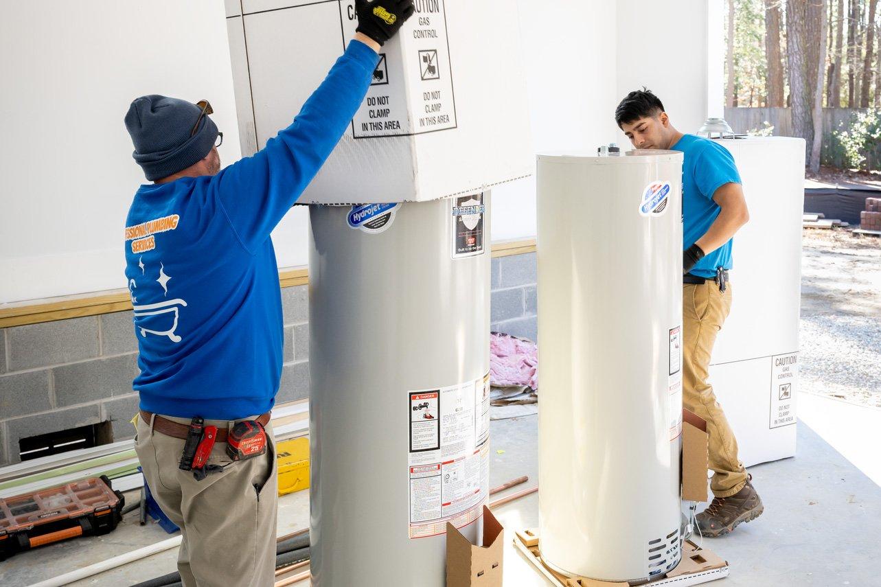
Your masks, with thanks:
M 536 255 L 492 259 L 492 331 L 536 340 Z M 277 403 L 307 398 L 307 286 L 282 289 L 284 367 Z M 137 339 L 131 312 L 0 329 L 0 465 L 19 462 L 19 439 L 109 420 L 134 436 Z

